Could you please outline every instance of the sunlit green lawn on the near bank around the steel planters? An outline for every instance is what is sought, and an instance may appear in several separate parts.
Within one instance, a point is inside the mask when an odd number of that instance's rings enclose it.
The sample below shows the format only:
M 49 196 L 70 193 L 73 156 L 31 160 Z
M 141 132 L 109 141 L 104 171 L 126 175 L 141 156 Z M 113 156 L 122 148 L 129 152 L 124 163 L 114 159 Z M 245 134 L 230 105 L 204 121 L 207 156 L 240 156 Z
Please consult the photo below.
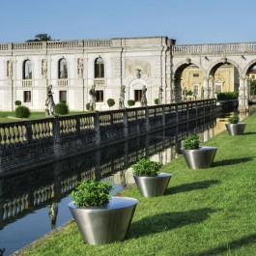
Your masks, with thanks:
M 218 148 L 213 167 L 190 170 L 183 156 L 164 166 L 173 174 L 164 196 L 123 191 L 139 200 L 124 242 L 85 244 L 71 221 L 19 255 L 255 255 L 256 115 L 245 122 L 244 135 L 223 131 L 205 143 Z

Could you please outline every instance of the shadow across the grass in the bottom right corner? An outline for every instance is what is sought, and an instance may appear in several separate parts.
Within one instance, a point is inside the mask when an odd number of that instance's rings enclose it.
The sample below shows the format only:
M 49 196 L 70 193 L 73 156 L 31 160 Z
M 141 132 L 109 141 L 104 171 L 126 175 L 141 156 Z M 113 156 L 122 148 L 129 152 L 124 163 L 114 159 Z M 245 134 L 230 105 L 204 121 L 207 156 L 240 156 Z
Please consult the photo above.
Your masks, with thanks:
M 254 243 L 255 240 L 256 240 L 256 234 L 252 234 L 250 236 L 243 237 L 240 240 L 235 240 L 235 241 L 230 242 L 228 244 L 223 244 L 219 247 L 215 247 L 215 248 L 207 250 L 207 251 L 203 251 L 203 252 L 199 252 L 199 253 L 198 252 L 197 253 L 192 253 L 192 254 L 189 254 L 188 256 L 218 255 L 218 254 L 223 253 L 223 252 L 231 253 L 232 250 L 238 249 L 238 248 L 240 248 L 240 247 L 242 247 L 246 244 L 252 243 L 252 242 Z M 227 255 L 229 255 L 229 254 L 227 254 Z

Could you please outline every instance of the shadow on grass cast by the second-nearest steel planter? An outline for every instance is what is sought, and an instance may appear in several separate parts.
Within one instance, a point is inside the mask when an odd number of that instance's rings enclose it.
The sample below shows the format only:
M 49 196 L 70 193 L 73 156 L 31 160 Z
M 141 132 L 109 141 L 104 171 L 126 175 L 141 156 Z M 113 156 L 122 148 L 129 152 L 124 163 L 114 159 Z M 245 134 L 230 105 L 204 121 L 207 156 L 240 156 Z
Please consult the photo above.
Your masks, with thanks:
M 166 189 L 165 194 L 177 194 L 177 193 L 187 192 L 187 191 L 196 190 L 196 189 L 203 189 L 216 184 L 220 184 L 220 182 L 217 180 L 212 180 L 212 181 L 210 180 L 210 181 L 197 182 L 192 184 L 176 185 L 176 186 L 168 187 Z

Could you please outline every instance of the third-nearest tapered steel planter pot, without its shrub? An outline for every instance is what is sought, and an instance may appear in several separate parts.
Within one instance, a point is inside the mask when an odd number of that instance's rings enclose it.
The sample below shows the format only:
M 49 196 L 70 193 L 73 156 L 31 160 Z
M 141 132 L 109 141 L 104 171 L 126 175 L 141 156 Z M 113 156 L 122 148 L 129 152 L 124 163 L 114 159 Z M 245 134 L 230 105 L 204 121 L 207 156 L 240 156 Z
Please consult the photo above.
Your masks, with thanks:
M 182 150 L 186 164 L 190 169 L 209 168 L 216 154 L 216 147 L 200 147 L 198 150 Z

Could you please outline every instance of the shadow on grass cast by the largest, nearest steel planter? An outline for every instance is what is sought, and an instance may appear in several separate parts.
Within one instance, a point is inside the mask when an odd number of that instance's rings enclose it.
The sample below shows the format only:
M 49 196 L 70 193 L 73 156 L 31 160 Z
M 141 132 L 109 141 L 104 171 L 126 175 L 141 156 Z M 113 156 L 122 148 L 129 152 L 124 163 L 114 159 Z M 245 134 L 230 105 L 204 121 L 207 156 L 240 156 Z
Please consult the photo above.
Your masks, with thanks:
M 128 239 L 165 232 L 185 225 L 200 223 L 216 210 L 206 208 L 189 212 L 160 213 L 144 217 L 130 225 Z

